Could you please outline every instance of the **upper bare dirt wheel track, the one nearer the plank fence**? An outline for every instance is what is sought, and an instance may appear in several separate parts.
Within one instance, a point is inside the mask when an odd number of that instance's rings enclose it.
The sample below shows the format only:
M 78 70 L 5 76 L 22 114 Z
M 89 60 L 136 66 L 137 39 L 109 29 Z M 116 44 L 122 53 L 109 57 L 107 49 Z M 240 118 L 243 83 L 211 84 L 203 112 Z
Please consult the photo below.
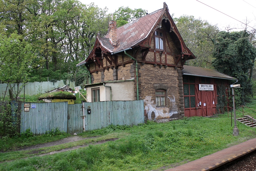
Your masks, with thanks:
M 36 145 L 28 146 L 28 147 L 23 147 L 18 150 L 14 150 L 14 151 L 30 150 L 30 149 L 37 149 L 37 148 L 42 148 L 42 147 L 50 147 L 50 146 L 54 146 L 54 145 L 65 144 L 65 143 L 70 143 L 70 142 L 75 142 L 75 141 L 85 140 L 85 139 L 90 139 L 90 138 L 97 138 L 97 137 L 99 137 L 99 136 L 82 138 L 81 136 L 72 135 L 72 136 L 69 136 L 69 137 L 61 139 L 61 140 L 52 141 L 52 142 L 43 143 L 43 144 L 36 144 Z

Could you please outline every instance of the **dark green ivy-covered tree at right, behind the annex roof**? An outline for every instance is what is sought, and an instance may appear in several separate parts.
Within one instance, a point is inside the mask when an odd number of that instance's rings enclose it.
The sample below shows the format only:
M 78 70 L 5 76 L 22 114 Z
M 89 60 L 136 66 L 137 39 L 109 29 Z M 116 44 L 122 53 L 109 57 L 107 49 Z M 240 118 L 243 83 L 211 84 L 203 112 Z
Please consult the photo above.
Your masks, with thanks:
M 246 31 L 221 31 L 214 40 L 213 66 L 216 70 L 237 78 L 241 88 L 236 89 L 237 105 L 244 105 L 246 94 L 252 94 L 249 70 L 253 67 L 256 49 L 249 41 Z

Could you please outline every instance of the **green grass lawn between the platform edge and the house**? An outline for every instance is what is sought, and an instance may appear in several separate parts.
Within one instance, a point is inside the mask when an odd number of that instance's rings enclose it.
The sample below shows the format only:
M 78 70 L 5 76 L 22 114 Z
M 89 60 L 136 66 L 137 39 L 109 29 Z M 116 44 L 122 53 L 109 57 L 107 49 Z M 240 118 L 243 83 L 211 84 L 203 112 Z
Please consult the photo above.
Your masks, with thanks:
M 0 164 L 0 170 L 152 170 L 162 166 L 168 168 L 175 163 L 192 161 L 255 137 L 255 128 L 240 122 L 237 122 L 237 126 L 239 136 L 234 137 L 230 118 L 226 114 L 210 118 L 190 117 L 166 123 L 150 121 L 120 129 L 109 126 L 82 133 L 81 136 L 103 135 L 98 137 L 98 140 L 119 138 L 114 142 L 4 162 Z M 67 143 L 66 146 L 68 145 L 74 146 Z M 48 151 L 51 150 L 47 148 Z M 1 160 L 3 155 L 0 156 Z M 10 158 L 15 153 L 8 155 Z

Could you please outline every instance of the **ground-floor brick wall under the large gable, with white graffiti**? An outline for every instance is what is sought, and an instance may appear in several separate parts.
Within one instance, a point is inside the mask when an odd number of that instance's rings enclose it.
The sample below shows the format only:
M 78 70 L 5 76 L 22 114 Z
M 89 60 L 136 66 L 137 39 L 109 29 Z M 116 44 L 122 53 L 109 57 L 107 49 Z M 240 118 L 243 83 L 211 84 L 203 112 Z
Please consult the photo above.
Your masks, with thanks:
M 184 116 L 184 108 L 180 107 L 179 73 L 174 67 L 159 68 L 146 63 L 141 66 L 139 72 L 141 73 L 140 98 L 144 99 L 148 119 L 159 120 Z M 158 83 L 168 86 L 166 106 L 156 106 L 154 85 Z

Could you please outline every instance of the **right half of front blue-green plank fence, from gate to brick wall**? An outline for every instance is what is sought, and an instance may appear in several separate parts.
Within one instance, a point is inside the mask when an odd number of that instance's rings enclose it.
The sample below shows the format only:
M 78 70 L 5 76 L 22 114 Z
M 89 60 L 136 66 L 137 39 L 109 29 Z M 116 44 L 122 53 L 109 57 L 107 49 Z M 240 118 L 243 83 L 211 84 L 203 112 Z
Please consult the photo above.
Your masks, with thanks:
M 88 114 L 90 110 L 90 114 Z M 68 105 L 68 133 L 113 125 L 137 125 L 144 122 L 143 100 L 83 102 Z

